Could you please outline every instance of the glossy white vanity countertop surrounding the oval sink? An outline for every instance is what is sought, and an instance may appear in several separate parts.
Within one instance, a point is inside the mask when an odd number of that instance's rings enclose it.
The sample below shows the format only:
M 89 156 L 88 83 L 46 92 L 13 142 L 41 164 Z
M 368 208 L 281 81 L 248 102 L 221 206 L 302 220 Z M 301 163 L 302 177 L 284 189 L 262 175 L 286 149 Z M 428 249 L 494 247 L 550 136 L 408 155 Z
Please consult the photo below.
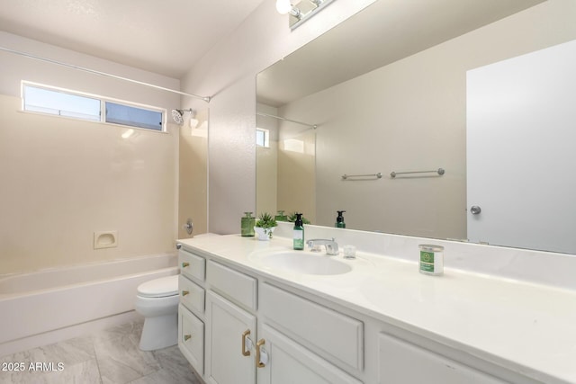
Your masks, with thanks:
M 351 261 L 332 256 L 353 267 L 338 275 L 285 272 L 258 263 L 255 251 L 292 250 L 292 239 L 283 237 L 178 242 L 535 380 L 576 383 L 574 290 L 448 267 L 443 276 L 429 276 L 419 273 L 416 262 L 362 252 Z

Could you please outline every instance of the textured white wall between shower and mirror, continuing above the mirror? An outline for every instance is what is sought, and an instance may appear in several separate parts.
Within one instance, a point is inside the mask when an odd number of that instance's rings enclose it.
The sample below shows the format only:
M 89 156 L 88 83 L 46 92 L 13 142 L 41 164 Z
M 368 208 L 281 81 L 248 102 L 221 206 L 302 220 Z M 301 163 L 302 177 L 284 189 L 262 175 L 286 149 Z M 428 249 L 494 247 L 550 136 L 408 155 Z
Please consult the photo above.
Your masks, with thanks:
M 184 92 L 213 95 L 209 134 L 209 230 L 238 233 L 256 209 L 256 75 L 374 0 L 337 1 L 291 32 L 266 0 L 182 79 Z

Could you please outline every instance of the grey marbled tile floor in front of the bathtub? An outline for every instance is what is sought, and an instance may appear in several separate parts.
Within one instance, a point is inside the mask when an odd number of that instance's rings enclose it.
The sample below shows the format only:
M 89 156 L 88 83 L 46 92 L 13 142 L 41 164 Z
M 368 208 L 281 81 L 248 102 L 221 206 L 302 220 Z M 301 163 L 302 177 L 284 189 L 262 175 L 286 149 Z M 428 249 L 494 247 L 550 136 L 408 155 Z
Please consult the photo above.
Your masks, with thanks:
M 94 335 L 2 356 L 0 384 L 202 384 L 177 345 L 140 351 L 142 325 L 114 326 Z M 14 364 L 24 370 L 11 371 Z

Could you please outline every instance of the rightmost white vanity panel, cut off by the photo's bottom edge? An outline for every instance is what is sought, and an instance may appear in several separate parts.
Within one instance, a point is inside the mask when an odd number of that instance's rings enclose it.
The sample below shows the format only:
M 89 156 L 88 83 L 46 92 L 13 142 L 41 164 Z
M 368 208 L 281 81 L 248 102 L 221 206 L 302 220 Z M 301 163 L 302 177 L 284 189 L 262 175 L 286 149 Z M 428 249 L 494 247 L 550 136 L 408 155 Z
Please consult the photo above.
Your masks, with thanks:
M 378 336 L 378 384 L 505 384 L 437 353 L 403 342 L 391 335 Z

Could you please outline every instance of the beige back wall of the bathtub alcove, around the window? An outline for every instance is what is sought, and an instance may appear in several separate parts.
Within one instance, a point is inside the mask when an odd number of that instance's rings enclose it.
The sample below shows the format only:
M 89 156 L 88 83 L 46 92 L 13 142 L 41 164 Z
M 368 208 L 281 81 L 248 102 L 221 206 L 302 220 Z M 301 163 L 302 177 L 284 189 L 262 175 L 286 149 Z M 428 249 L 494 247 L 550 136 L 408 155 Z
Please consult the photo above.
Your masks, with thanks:
M 178 89 L 179 82 L 0 32 L 0 45 Z M 0 274 L 173 252 L 178 128 L 22 112 L 21 80 L 166 108 L 177 95 L 0 52 Z M 118 246 L 94 249 L 94 232 Z

